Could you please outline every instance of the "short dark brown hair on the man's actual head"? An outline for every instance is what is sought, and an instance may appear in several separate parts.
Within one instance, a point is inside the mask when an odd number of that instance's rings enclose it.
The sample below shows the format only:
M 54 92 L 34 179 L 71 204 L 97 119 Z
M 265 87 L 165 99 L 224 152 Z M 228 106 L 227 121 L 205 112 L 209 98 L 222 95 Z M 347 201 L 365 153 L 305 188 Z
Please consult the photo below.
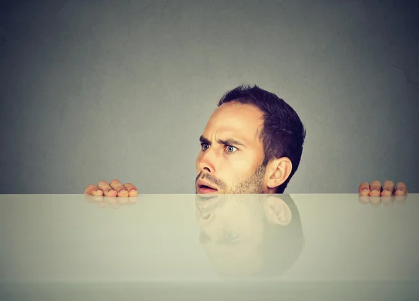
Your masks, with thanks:
M 263 128 L 259 132 L 264 151 L 263 166 L 267 166 L 267 163 L 273 159 L 284 156 L 291 160 L 293 164 L 291 174 L 277 188 L 277 193 L 284 193 L 301 161 L 306 130 L 300 117 L 283 99 L 269 91 L 260 89 L 257 85 L 253 87 L 240 85 L 227 91 L 217 106 L 231 101 L 254 105 L 263 112 Z

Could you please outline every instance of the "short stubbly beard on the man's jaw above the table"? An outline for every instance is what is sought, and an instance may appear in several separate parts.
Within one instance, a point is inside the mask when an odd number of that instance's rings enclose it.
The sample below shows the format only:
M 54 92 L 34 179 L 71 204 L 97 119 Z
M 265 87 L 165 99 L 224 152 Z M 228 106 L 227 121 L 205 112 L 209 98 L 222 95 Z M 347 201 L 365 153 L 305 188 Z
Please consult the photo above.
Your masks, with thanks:
M 265 177 L 265 170 L 266 167 L 260 164 L 256 171 L 253 172 L 253 175 L 244 179 L 239 184 L 233 185 L 233 187 L 228 187 L 224 182 L 219 179 L 216 179 L 212 175 L 208 173 L 200 172 L 196 180 L 198 179 L 206 179 L 208 182 L 215 184 L 218 189 L 219 193 L 226 193 L 226 194 L 258 194 L 263 193 L 263 177 Z M 198 188 L 195 188 L 195 193 L 198 193 Z

